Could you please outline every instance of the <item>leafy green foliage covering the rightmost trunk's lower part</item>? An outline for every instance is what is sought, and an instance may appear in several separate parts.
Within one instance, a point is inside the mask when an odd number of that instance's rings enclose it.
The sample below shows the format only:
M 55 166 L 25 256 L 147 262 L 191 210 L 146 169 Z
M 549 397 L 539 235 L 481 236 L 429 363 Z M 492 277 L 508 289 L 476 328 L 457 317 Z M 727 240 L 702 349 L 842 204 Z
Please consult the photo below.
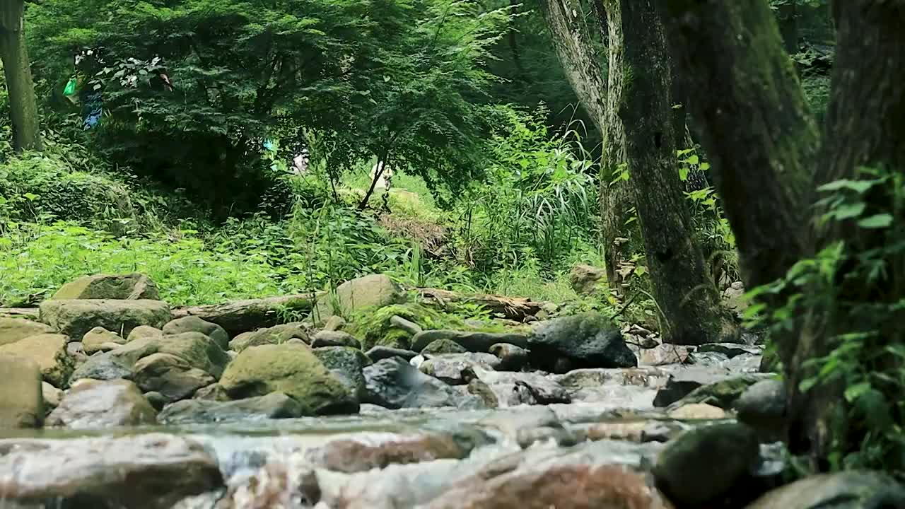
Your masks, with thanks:
M 905 177 L 862 169 L 863 178 L 820 188 L 822 227 L 846 232 L 848 242 L 826 246 L 799 261 L 786 277 L 757 288 L 749 298 L 781 297 L 781 305 L 759 303 L 774 337 L 800 333 L 826 341 L 830 353 L 805 360 L 802 391 L 843 389 L 830 423 L 834 469 L 905 470 Z

